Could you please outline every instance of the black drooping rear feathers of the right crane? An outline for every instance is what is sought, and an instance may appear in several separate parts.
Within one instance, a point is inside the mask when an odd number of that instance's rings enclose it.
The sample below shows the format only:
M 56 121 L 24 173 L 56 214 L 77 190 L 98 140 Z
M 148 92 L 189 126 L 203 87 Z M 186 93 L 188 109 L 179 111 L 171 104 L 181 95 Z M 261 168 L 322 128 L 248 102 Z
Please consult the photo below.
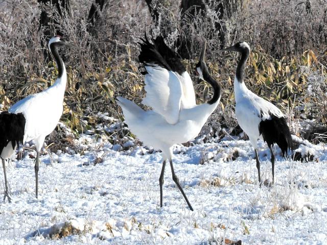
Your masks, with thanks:
M 260 122 L 259 133 L 263 136 L 269 148 L 276 143 L 281 148 L 284 156 L 287 155 L 289 149 L 293 150 L 292 136 L 285 117 L 277 117 L 271 114 L 271 119 Z

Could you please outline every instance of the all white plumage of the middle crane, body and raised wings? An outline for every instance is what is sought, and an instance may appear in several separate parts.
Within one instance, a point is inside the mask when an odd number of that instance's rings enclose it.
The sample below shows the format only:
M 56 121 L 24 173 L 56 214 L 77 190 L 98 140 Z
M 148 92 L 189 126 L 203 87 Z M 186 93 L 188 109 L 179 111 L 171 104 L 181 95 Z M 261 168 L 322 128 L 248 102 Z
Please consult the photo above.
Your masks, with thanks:
M 160 66 L 146 66 L 146 69 L 147 95 L 142 103 L 153 110 L 145 111 L 123 97 L 117 98 L 118 104 L 137 138 L 161 150 L 164 158 L 169 159 L 173 144 L 194 139 L 220 100 L 212 105 L 196 105 L 192 80 L 187 72 L 178 75 Z

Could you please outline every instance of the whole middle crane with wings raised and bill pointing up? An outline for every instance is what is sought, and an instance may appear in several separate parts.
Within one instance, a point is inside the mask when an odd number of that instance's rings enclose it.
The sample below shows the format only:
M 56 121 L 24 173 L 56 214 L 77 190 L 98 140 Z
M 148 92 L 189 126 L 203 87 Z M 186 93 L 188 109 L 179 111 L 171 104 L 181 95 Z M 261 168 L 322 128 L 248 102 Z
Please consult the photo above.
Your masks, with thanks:
M 175 175 L 172 162 L 172 146 L 194 139 L 200 132 L 205 121 L 216 109 L 220 101 L 220 85 L 213 80 L 204 63 L 205 45 L 197 67 L 203 67 L 200 78 L 206 79 L 214 89 L 213 99 L 196 105 L 192 80 L 177 55 L 166 45 L 164 38 L 147 37 L 142 39 L 141 53 L 138 56 L 146 68 L 145 90 L 147 92 L 143 104 L 153 110 L 144 111 L 134 102 L 117 97 L 117 103 L 122 107 L 125 120 L 131 131 L 146 145 L 160 149 L 163 160 L 159 186 L 160 207 L 162 207 L 162 185 L 166 161 L 170 162 L 172 178 L 182 193 L 190 210 L 193 208 Z M 201 71 L 200 71 L 201 72 Z

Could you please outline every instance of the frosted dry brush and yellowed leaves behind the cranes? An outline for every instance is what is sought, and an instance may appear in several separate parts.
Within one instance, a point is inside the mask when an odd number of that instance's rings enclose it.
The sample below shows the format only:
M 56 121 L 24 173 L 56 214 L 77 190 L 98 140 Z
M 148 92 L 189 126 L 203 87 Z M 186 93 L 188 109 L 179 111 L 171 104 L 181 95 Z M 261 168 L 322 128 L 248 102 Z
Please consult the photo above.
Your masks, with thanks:
M 191 77 L 195 78 L 197 53 L 203 40 L 207 39 L 208 66 L 214 79 L 223 87 L 221 105 L 203 128 L 201 135 L 205 137 L 202 140 L 218 141 L 225 134 L 222 130 L 229 134 L 237 127 L 232 86 L 237 57 L 218 53 L 220 29 L 215 28 L 219 26 L 217 21 L 221 21 L 225 26 L 226 45 L 245 40 L 251 46 L 245 76 L 249 89 L 277 104 L 289 122 L 314 119 L 309 134 L 296 124 L 292 124 L 291 129 L 294 134 L 310 140 L 325 141 L 325 0 L 243 1 L 242 8 L 224 19 L 215 10 L 219 1 L 213 2 L 205 2 L 206 12 L 188 18 L 189 23 L 183 26 L 190 28 L 187 38 L 193 40 L 189 47 L 192 51 L 190 60 L 184 61 Z M 58 25 L 54 26 L 66 39 L 81 47 L 80 51 L 61 51 L 68 72 L 61 121 L 76 135 L 95 127 L 98 112 L 108 112 L 111 117 L 123 119 L 114 101 L 117 95 L 141 103 L 145 92 L 137 61 L 137 41 L 145 30 L 151 32 L 152 28 L 154 35 L 164 33 L 171 47 L 183 31 L 177 25 L 181 13 L 175 2 L 165 1 L 158 9 L 161 21 L 165 22 L 158 26 L 152 23 L 145 1 L 110 0 L 101 12 L 101 23 L 89 33 L 86 16 L 91 3 L 72 0 L 72 15 L 58 19 Z M 14 3 L 5 0 L 0 6 L 4 9 L 0 13 L 0 105 L 2 110 L 7 110 L 22 97 L 53 84 L 57 69 L 53 61 L 47 62 L 43 57 L 41 42 L 44 38 L 38 30 L 38 5 L 28 0 Z M 194 81 L 198 102 L 206 101 L 211 96 L 208 85 L 198 84 L 197 79 Z M 316 127 L 322 129 L 319 135 L 315 134 Z M 60 134 L 60 130 L 57 133 Z M 114 143 L 118 139 L 115 137 L 111 141 Z M 67 139 L 66 143 L 69 142 Z M 65 142 L 62 147 L 64 145 Z

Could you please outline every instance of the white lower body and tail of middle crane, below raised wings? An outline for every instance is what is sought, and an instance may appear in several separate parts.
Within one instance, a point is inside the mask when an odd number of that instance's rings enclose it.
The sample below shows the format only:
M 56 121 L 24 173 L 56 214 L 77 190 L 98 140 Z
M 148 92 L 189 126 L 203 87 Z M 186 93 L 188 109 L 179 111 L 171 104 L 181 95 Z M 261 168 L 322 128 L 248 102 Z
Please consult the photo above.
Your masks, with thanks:
M 167 157 L 171 156 L 165 149 L 170 148 L 173 144 L 194 139 L 200 133 L 209 115 L 217 107 L 214 104 L 208 108 L 208 105 L 202 104 L 182 109 L 176 124 L 169 124 L 163 116 L 155 111 L 144 111 L 134 102 L 122 97 L 118 97 L 118 100 L 130 130 L 146 145 L 152 146 L 156 150 L 162 150 Z M 134 107 L 138 107 L 138 113 L 132 109 Z

